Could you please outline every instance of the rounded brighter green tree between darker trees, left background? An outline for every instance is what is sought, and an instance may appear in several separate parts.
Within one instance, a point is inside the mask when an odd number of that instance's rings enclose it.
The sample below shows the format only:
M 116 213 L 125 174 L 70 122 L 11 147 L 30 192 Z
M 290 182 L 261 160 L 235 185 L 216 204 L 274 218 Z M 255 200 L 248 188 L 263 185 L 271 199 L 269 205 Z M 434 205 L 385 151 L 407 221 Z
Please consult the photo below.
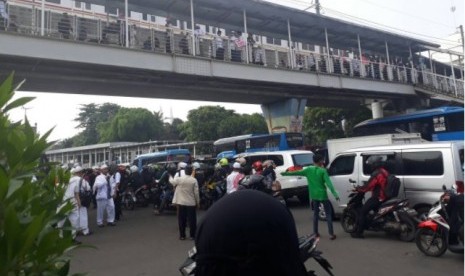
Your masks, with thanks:
M 99 127 L 100 142 L 143 142 L 163 136 L 161 113 L 144 108 L 121 108 L 105 126 Z

